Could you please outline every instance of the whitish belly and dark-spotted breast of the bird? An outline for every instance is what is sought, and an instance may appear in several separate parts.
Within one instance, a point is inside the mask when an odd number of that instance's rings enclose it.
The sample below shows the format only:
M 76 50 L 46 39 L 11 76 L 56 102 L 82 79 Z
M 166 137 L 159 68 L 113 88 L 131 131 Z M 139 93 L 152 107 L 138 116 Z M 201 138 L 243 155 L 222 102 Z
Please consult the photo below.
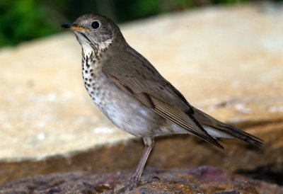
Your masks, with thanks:
M 98 108 L 120 129 L 136 136 L 155 136 L 155 123 L 159 115 L 121 91 L 106 76 L 94 67 L 87 72 L 84 68 L 83 79 L 86 90 Z M 158 129 L 157 129 L 158 130 Z

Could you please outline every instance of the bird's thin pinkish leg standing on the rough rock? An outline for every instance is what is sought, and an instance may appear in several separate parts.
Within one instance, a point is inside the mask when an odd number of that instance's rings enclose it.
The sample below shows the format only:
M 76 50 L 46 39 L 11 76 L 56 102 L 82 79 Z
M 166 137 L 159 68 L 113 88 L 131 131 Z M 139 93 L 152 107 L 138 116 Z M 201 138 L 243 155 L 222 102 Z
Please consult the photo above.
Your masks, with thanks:
M 126 188 L 132 190 L 137 186 L 139 178 L 141 178 L 141 173 L 144 171 L 144 165 L 149 157 L 151 149 L 154 147 L 154 137 L 143 137 L 144 139 L 144 151 L 142 152 L 141 159 L 139 159 L 139 164 L 137 165 L 136 171 L 133 173 L 132 178 L 129 180 Z

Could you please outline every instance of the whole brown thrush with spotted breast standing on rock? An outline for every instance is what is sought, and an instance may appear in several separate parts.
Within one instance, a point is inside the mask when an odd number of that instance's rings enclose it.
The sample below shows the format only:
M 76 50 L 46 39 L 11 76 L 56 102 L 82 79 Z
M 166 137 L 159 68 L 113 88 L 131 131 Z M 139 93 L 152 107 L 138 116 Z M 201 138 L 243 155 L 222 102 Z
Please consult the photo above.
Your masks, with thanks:
M 261 139 L 190 105 L 127 44 L 120 28 L 109 18 L 86 14 L 62 27 L 72 30 L 82 47 L 83 80 L 93 102 L 117 127 L 144 140 L 144 151 L 126 189 L 137 186 L 158 135 L 195 135 L 221 149 L 219 138 L 262 146 Z

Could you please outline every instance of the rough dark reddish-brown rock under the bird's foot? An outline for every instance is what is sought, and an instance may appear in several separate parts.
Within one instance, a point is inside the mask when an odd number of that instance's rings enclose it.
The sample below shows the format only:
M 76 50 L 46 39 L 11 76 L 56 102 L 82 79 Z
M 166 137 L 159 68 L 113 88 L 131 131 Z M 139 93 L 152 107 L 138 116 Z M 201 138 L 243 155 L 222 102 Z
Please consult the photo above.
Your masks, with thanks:
M 130 177 L 131 173 L 86 172 L 35 176 L 6 183 L 0 186 L 0 193 L 283 193 L 283 188 L 275 184 L 207 166 L 196 169 L 149 169 L 144 172 L 137 188 L 118 191 Z

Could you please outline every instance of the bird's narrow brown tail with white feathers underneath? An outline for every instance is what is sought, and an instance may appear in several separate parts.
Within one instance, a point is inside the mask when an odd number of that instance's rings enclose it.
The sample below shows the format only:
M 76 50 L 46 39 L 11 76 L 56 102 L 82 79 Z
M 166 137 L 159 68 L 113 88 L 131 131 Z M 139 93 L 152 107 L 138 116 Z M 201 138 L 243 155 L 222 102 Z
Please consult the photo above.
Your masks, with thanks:
M 242 130 L 239 130 L 236 127 L 231 125 L 227 125 L 224 122 L 220 122 L 215 118 L 203 113 L 201 110 L 198 110 L 195 107 L 194 109 L 194 117 L 200 122 L 200 125 L 204 126 L 204 130 L 207 131 L 209 135 L 212 137 L 224 137 L 224 138 L 236 138 L 240 139 L 243 142 L 248 142 L 249 144 L 253 145 L 254 147 L 262 147 L 262 139 L 255 137 L 253 135 L 248 134 Z

